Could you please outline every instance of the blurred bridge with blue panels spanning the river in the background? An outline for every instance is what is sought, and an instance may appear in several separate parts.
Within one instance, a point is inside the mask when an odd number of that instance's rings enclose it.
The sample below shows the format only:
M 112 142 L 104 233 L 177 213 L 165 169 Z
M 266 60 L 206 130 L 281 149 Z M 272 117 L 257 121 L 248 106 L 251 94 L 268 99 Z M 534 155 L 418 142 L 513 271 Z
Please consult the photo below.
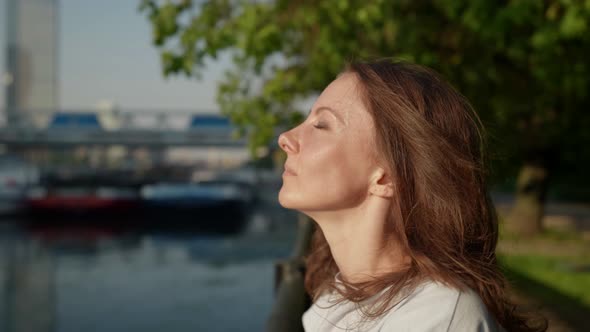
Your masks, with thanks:
M 12 114 L 19 114 L 13 112 Z M 15 148 L 59 148 L 80 145 L 243 147 L 235 127 L 216 114 L 165 111 L 21 112 L 0 126 L 0 144 Z

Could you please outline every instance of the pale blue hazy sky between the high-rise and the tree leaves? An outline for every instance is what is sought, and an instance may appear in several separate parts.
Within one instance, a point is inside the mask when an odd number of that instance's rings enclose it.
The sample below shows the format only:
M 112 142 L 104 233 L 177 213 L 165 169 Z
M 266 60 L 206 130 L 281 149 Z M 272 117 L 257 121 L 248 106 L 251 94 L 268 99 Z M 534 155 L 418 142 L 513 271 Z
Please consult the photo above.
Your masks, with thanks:
M 217 112 L 216 85 L 227 59 L 210 64 L 201 80 L 164 79 L 151 27 L 139 0 L 58 0 L 59 107 L 94 109 L 108 101 L 121 110 Z M 5 71 L 6 0 L 0 0 L 0 64 Z M 0 102 L 4 105 L 4 89 Z

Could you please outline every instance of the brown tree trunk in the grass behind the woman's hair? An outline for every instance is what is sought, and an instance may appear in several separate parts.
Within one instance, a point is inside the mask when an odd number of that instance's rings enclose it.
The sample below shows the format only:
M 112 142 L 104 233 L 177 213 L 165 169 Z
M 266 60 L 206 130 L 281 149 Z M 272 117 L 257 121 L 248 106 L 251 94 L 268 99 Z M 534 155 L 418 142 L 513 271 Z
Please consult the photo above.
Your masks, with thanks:
M 516 198 L 506 220 L 506 229 L 518 235 L 534 235 L 543 230 L 549 171 L 539 164 L 524 164 L 516 182 Z

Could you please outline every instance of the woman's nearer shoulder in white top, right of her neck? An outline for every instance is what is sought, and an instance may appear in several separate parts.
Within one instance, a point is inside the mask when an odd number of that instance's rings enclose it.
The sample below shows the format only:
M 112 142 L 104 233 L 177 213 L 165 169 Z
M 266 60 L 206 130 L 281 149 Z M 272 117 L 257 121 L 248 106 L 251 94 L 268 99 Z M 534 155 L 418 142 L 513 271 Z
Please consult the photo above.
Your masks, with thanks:
M 474 291 L 460 291 L 440 283 L 427 282 L 386 314 L 381 331 L 501 330 Z

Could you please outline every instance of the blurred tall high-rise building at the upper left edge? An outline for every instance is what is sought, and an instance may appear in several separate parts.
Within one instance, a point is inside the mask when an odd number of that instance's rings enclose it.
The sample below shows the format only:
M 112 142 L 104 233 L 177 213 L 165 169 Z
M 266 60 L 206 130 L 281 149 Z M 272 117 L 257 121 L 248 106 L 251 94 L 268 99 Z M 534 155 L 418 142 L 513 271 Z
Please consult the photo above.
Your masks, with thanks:
M 6 1 L 6 121 L 43 126 L 58 107 L 58 3 Z

